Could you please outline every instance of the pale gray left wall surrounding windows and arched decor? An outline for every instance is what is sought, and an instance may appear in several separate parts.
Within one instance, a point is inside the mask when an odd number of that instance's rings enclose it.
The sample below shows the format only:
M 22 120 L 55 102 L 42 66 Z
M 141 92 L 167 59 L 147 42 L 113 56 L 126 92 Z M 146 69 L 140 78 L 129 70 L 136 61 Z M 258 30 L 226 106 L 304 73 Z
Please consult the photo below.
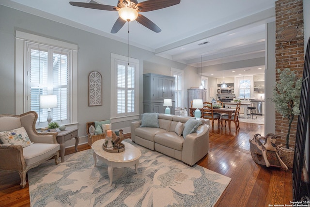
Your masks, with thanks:
M 2 5 L 0 5 L 0 114 L 15 114 L 16 30 L 78 45 L 79 136 L 86 135 L 86 122 L 109 119 L 110 100 L 105 97 L 110 96 L 110 53 L 127 56 L 127 44 Z M 130 46 L 130 56 L 140 60 L 140 113 L 143 101 L 143 73 L 170 75 L 170 68 L 173 67 L 184 70 L 186 79 L 187 75 L 197 77 L 196 68 L 157 57 L 153 52 L 144 49 Z M 104 98 L 102 106 L 89 107 L 88 74 L 93 70 L 99 71 L 103 76 Z M 192 78 L 185 80 L 186 87 L 191 81 Z M 113 128 L 129 127 L 129 124 L 129 121 L 115 123 Z

